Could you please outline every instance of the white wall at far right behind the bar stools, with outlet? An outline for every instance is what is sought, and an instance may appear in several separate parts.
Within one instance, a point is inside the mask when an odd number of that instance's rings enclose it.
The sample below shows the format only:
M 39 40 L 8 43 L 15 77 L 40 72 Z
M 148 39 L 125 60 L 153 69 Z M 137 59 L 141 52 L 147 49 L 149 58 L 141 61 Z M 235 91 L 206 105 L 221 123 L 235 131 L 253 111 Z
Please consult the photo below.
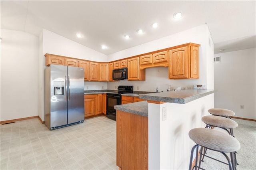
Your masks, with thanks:
M 214 62 L 215 107 L 256 119 L 256 48 L 220 53 Z M 244 109 L 240 109 L 244 105 Z

